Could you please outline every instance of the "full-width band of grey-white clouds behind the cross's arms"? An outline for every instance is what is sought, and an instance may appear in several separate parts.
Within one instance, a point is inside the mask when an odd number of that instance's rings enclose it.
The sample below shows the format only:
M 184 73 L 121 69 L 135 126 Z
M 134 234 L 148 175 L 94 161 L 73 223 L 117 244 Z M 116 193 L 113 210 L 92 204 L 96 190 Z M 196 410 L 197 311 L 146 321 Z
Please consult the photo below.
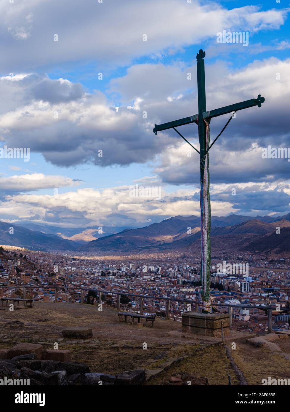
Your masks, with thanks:
M 192 81 L 187 80 L 187 73 L 192 73 Z M 247 179 L 254 172 L 257 180 L 264 179 L 266 174 L 283 178 L 288 173 L 283 162 L 261 162 L 259 150 L 269 144 L 290 145 L 286 104 L 290 98 L 289 73 L 290 59 L 254 61 L 239 70 L 230 70 L 220 62 L 206 65 L 209 110 L 258 94 L 266 99 L 262 108 L 237 112 L 236 119 L 210 150 L 211 167 L 220 170 L 220 178 L 226 177 L 222 164 L 233 168 L 227 175 L 231 181 Z M 178 170 L 169 168 L 174 159 L 166 164 L 171 151 L 176 150 L 173 156 L 178 156 L 182 147 L 178 135 L 166 131 L 155 136 L 152 129 L 155 123 L 196 114 L 195 78 L 195 66 L 139 64 L 132 66 L 125 76 L 112 80 L 106 95 L 101 91 L 85 93 L 80 84 L 51 80 L 47 76 L 2 77 L 0 91 L 7 96 L 7 106 L 2 102 L 0 107 L 2 141 L 10 147 L 30 147 L 30 151 L 42 153 L 47 161 L 59 166 L 129 165 L 147 161 L 157 164 L 158 155 L 163 154 L 161 169 L 157 171 L 161 170 L 164 181 L 189 183 L 188 176 L 194 166 L 188 157 L 183 158 Z M 111 92 L 123 96 L 118 109 L 108 97 Z M 132 100 L 135 104 L 129 105 Z M 211 121 L 212 140 L 227 118 L 228 115 Z M 182 133 L 197 143 L 195 124 L 182 127 Z M 237 155 L 239 162 L 234 160 Z M 213 178 L 218 181 L 219 176 Z

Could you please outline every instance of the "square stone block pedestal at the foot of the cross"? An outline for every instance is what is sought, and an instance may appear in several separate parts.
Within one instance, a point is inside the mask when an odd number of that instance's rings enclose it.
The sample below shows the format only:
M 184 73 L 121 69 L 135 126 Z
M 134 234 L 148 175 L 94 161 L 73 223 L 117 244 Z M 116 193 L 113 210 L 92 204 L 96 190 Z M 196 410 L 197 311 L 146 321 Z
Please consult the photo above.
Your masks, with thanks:
M 182 315 L 182 332 L 196 335 L 222 337 L 229 334 L 229 315 L 220 313 L 204 314 L 189 312 Z

